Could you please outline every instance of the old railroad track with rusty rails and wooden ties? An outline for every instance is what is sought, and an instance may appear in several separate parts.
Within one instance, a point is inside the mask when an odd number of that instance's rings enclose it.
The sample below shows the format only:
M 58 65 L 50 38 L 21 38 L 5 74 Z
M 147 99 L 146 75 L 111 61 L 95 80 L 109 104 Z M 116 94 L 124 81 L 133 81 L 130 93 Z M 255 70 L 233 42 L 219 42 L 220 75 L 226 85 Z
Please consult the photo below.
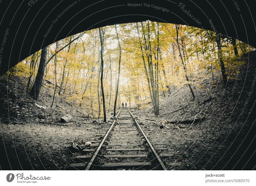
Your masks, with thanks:
M 104 130 L 105 129 L 105 130 Z M 129 108 L 120 109 L 112 125 L 102 128 L 102 140 L 92 141 L 97 149 L 85 149 L 77 156 L 75 170 L 167 170 Z M 163 155 L 162 155 L 163 156 Z

